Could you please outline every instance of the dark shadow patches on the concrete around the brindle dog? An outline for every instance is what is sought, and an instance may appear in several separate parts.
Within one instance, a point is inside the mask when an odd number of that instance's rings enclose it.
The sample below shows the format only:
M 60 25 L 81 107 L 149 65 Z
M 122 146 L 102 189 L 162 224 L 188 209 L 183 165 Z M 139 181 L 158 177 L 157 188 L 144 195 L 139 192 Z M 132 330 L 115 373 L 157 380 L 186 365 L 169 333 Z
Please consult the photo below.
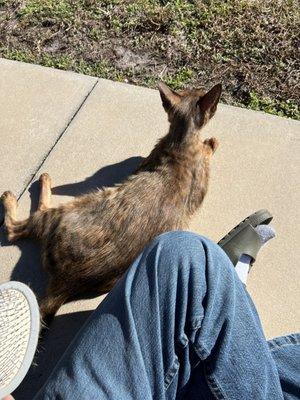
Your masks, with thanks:
M 68 183 L 52 189 L 52 193 L 64 196 L 78 196 L 94 189 L 113 186 L 124 181 L 131 175 L 143 161 L 142 157 L 131 157 L 116 164 L 101 168 L 94 175 L 84 181 Z M 38 182 L 34 182 L 30 189 L 31 211 L 36 210 L 39 197 Z M 0 246 L 8 246 L 3 228 L 0 232 Z M 45 293 L 47 282 L 46 273 L 41 268 L 39 245 L 24 240 L 16 242 L 21 256 L 14 267 L 11 280 L 27 284 L 40 299 Z M 31 399 L 37 390 L 46 381 L 64 349 L 80 329 L 89 312 L 78 312 L 57 316 L 46 332 L 45 338 L 39 344 L 36 363 L 30 369 L 25 380 L 15 392 L 16 400 Z

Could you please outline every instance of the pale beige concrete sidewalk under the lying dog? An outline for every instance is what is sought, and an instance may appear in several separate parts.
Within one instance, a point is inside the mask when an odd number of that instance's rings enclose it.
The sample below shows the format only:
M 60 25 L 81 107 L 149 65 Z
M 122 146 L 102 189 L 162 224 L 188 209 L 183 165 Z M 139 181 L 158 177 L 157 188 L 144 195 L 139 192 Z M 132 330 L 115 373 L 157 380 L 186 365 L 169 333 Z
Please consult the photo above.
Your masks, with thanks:
M 24 217 L 36 204 L 34 182 L 41 172 L 52 177 L 55 203 L 112 185 L 168 127 L 155 90 L 7 60 L 0 60 L 0 86 L 0 191 L 20 196 Z M 216 136 L 220 147 L 209 194 L 191 230 L 218 240 L 247 215 L 269 209 L 277 238 L 259 255 L 249 291 L 267 337 L 299 330 L 300 123 L 220 105 L 203 135 Z M 38 248 L 28 242 L 8 246 L 0 234 L 0 282 L 20 279 L 40 293 Z M 39 356 L 47 367 L 31 370 L 19 398 L 34 394 L 98 303 L 61 308 Z

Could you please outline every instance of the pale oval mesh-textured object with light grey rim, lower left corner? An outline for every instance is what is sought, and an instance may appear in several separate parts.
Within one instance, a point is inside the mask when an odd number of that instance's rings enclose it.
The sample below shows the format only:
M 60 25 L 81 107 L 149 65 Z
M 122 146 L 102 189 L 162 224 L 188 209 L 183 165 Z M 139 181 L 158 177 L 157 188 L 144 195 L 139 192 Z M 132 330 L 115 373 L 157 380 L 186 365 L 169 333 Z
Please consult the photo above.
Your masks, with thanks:
M 13 281 L 0 284 L 0 399 L 24 379 L 39 330 L 39 308 L 29 287 Z

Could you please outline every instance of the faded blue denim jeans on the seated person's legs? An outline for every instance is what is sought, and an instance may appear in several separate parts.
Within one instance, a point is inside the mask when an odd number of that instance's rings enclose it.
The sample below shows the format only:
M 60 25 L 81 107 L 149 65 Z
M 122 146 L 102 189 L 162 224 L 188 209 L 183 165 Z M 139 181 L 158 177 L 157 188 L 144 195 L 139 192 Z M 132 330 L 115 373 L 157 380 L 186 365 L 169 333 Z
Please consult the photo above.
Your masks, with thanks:
M 219 246 L 166 233 L 91 315 L 35 400 L 296 399 L 299 342 L 266 341 Z

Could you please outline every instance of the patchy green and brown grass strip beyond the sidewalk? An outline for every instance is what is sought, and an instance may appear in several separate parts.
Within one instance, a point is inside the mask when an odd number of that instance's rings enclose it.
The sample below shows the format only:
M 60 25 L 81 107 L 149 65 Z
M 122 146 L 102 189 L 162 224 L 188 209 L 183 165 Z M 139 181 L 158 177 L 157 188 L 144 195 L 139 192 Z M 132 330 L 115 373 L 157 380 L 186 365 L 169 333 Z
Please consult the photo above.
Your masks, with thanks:
M 0 0 L 0 56 L 300 119 L 296 0 Z M 121 50 L 120 50 L 121 49 Z

